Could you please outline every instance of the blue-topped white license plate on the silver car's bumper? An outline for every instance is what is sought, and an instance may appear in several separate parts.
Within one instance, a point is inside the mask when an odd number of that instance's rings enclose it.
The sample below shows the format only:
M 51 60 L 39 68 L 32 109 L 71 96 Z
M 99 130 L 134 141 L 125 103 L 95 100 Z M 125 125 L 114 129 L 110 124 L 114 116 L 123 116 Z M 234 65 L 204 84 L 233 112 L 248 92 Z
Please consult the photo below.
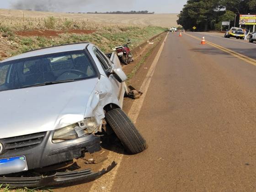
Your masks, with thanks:
M 6 159 L 0 159 L 0 173 L 1 170 L 11 173 L 24 172 L 28 170 L 27 161 L 25 156 L 11 157 Z

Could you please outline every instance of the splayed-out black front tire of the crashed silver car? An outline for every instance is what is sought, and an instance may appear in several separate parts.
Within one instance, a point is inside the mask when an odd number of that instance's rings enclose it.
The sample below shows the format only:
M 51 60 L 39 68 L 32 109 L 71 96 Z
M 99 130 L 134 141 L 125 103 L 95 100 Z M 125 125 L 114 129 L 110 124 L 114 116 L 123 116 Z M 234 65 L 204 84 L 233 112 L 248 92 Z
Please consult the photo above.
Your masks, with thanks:
M 107 123 L 128 152 L 137 154 L 147 149 L 145 139 L 122 109 L 112 109 L 105 116 Z

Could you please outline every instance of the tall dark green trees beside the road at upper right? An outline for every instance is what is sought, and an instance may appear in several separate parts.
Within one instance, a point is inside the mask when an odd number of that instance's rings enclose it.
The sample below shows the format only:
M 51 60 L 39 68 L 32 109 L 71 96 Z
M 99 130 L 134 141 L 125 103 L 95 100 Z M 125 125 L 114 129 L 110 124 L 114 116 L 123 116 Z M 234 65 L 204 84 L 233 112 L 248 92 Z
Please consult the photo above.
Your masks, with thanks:
M 256 14 L 256 0 L 187 0 L 177 23 L 184 29 L 219 30 L 222 21 L 239 25 L 239 15 Z

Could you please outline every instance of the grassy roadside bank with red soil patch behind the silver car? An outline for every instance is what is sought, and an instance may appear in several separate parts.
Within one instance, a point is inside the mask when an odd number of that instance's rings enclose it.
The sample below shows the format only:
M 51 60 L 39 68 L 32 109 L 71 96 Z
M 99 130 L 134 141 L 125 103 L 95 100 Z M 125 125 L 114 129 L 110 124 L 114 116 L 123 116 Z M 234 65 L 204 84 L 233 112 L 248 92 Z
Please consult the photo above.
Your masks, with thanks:
M 14 22 L 13 25 L 8 18 L 0 20 L 6 21 L 0 21 L 0 43 L 4 44 L 0 48 L 0 60 L 32 49 L 77 42 L 91 42 L 102 51 L 111 52 L 112 48 L 126 43 L 128 38 L 131 38 L 133 48 L 166 30 L 157 26 L 101 25 L 69 19 L 60 20 L 55 17 L 30 21 L 27 19 L 24 23 Z M 81 33 L 76 33 L 76 30 L 81 30 Z M 26 35 L 28 31 L 34 31 L 35 35 Z M 23 35 L 19 35 L 18 32 L 22 32 Z

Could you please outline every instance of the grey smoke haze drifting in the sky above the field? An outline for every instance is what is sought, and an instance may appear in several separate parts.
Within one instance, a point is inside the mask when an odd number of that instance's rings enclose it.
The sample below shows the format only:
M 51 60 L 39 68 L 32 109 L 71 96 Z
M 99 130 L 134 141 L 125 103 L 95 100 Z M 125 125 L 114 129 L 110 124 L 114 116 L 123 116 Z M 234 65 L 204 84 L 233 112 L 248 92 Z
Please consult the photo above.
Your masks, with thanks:
M 106 2 L 107 1 L 107 2 Z M 132 0 L 133 1 L 133 0 Z M 120 0 L 16 0 L 12 3 L 12 8 L 17 10 L 37 10 L 37 11 L 94 11 L 86 9 L 86 5 L 94 4 L 102 8 L 115 6 L 121 7 L 123 1 Z M 106 7 L 106 8 L 107 8 Z

